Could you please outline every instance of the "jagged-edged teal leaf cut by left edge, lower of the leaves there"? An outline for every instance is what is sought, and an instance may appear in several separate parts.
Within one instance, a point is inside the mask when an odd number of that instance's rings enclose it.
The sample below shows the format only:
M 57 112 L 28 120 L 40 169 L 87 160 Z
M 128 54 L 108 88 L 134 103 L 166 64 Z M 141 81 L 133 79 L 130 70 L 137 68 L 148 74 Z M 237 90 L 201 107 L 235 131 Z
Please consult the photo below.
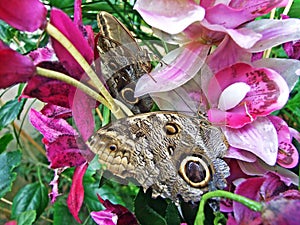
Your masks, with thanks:
M 13 169 L 20 165 L 22 153 L 20 151 L 5 152 L 0 154 L 0 198 L 11 191 L 12 183 L 17 174 Z

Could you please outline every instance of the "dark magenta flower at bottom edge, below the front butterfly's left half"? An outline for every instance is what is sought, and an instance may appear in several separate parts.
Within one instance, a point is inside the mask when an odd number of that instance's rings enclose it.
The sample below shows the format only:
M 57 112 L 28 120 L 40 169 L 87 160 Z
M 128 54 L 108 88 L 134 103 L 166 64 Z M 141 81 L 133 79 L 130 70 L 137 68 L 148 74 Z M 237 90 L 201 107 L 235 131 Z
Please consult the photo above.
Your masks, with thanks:
M 138 225 L 135 216 L 124 206 L 112 204 L 99 195 L 98 199 L 106 208 L 99 212 L 91 212 L 91 217 L 98 225 Z

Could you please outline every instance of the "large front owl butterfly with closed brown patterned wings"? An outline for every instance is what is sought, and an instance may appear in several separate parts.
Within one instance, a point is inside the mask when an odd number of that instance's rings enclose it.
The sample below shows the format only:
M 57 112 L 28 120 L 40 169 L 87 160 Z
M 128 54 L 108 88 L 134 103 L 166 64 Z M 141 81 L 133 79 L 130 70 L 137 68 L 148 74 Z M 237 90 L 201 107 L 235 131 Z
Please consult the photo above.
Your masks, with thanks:
M 221 159 L 228 144 L 206 120 L 176 112 L 150 112 L 117 120 L 88 141 L 104 168 L 134 178 L 152 197 L 197 202 L 223 189 L 229 167 Z

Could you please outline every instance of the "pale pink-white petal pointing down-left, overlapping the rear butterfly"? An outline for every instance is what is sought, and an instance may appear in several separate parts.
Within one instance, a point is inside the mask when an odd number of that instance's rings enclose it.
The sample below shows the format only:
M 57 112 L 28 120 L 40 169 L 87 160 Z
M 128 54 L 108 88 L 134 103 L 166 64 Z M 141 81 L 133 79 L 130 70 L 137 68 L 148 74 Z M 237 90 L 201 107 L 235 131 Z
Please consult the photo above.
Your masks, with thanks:
M 167 65 L 158 65 L 154 71 L 142 76 L 136 85 L 135 96 L 153 92 L 164 92 L 175 89 L 191 78 L 203 65 L 209 46 L 198 42 L 190 43 L 182 48 L 170 52 L 162 59 Z

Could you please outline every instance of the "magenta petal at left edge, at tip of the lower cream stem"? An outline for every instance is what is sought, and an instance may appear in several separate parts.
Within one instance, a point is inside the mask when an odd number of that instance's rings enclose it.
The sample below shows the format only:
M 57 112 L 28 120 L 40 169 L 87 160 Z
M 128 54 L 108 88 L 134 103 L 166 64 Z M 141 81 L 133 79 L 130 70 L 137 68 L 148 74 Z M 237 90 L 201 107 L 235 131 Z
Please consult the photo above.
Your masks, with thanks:
M 30 58 L 8 49 L 0 50 L 0 88 L 27 82 L 35 75 L 35 67 Z

